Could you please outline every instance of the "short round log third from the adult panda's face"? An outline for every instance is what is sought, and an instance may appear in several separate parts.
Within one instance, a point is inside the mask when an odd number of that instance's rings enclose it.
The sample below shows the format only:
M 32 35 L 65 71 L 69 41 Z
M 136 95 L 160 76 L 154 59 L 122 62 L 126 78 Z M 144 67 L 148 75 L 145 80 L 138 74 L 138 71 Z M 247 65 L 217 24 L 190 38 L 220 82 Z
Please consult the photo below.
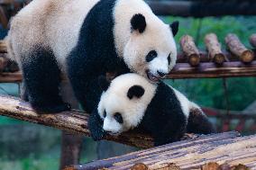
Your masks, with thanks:
M 228 34 L 225 37 L 225 43 L 227 48 L 243 63 L 250 63 L 253 60 L 254 53 L 250 49 L 246 49 L 235 34 Z

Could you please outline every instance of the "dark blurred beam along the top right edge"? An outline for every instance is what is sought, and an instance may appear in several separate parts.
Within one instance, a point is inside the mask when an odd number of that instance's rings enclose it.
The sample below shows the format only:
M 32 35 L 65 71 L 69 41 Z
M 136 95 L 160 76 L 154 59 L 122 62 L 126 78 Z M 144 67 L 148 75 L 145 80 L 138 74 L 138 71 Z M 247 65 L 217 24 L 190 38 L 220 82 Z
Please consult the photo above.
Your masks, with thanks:
M 224 15 L 255 15 L 256 3 L 252 0 L 198 0 L 198 1 L 153 1 L 148 0 L 157 15 L 206 17 Z

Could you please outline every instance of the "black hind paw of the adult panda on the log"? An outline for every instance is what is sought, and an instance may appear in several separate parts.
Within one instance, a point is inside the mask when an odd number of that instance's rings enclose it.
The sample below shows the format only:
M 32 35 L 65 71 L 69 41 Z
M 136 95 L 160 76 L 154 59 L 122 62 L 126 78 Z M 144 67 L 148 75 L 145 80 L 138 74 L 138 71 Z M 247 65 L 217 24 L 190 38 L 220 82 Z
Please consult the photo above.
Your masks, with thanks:
M 70 111 L 71 106 L 69 103 L 59 103 L 56 105 L 33 105 L 33 109 L 38 112 L 39 114 L 47 114 L 47 113 L 59 113 L 59 112 L 65 112 Z

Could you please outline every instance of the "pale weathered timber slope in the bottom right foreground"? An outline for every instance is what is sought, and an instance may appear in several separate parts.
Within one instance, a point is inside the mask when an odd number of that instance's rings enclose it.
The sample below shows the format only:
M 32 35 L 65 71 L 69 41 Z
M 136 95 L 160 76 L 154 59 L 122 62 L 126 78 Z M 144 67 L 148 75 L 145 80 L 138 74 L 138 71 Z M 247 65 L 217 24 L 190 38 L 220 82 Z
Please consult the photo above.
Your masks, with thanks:
M 229 166 L 242 164 L 255 169 L 256 135 L 239 137 L 239 133 L 234 131 L 208 135 L 86 165 L 71 166 L 67 170 L 126 170 L 138 164 L 143 164 L 150 170 L 170 169 L 169 167 L 174 165 L 180 169 L 201 170 L 202 166 L 210 162 Z

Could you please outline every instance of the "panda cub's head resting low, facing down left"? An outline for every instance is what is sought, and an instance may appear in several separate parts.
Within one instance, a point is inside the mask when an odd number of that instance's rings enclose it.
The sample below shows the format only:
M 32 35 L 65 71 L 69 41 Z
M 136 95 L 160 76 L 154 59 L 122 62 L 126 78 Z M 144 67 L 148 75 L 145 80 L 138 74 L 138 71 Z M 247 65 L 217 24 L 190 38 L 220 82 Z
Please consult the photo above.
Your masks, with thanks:
M 104 121 L 103 130 L 118 135 L 137 127 L 151 103 L 156 86 L 136 74 L 118 76 L 111 83 L 101 77 L 99 82 L 105 91 L 97 108 Z

